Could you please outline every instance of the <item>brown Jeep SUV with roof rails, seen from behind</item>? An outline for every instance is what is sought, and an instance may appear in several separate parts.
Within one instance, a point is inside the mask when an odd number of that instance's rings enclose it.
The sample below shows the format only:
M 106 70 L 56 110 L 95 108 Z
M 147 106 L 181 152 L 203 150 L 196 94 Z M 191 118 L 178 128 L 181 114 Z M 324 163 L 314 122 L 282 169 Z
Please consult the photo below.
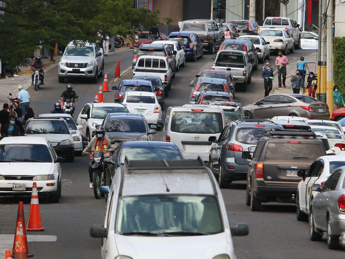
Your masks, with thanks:
M 260 138 L 247 170 L 246 204 L 259 211 L 262 202 L 295 203 L 297 185 L 302 177 L 297 171 L 307 170 L 320 156 L 326 155 L 322 141 L 313 131 L 274 130 Z

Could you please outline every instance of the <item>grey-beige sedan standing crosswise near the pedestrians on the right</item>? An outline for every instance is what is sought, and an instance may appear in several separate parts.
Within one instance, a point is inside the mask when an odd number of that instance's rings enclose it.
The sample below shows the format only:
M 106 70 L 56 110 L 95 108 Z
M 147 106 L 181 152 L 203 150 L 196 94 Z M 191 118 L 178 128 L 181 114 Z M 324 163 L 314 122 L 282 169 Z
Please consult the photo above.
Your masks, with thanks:
M 303 94 L 274 94 L 243 107 L 249 118 L 297 116 L 308 119 L 328 119 L 327 104 Z

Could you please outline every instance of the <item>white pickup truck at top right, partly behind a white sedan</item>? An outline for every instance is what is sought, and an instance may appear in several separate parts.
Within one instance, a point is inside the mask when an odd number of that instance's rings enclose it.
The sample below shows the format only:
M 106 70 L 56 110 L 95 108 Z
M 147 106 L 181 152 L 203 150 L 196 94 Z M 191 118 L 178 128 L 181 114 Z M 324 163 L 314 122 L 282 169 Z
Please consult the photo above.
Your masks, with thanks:
M 266 17 L 263 26 L 259 26 L 258 35 L 262 28 L 276 28 L 285 29 L 288 34 L 294 38 L 295 48 L 300 49 L 301 46 L 301 32 L 299 30 L 299 24 L 295 24 L 294 20 L 287 17 Z

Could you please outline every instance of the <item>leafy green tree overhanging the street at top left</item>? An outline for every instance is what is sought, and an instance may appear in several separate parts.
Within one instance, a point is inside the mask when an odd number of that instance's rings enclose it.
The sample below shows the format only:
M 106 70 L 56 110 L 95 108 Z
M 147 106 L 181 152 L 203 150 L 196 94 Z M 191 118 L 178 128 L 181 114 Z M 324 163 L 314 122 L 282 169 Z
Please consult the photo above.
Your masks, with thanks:
M 142 26 L 169 24 L 159 9 L 132 8 L 133 0 L 2 0 L 0 59 L 16 66 L 42 47 L 103 36 L 134 38 Z

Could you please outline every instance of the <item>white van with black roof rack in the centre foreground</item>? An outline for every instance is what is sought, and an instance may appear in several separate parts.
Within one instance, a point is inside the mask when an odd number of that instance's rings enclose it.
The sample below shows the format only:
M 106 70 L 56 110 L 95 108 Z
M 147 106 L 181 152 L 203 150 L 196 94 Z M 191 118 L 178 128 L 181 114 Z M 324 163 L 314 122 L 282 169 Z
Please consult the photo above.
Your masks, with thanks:
M 105 221 L 90 229 L 102 238 L 101 258 L 236 258 L 232 236 L 248 234 L 245 223 L 230 226 L 200 161 L 127 161 L 101 191 L 109 195 Z

